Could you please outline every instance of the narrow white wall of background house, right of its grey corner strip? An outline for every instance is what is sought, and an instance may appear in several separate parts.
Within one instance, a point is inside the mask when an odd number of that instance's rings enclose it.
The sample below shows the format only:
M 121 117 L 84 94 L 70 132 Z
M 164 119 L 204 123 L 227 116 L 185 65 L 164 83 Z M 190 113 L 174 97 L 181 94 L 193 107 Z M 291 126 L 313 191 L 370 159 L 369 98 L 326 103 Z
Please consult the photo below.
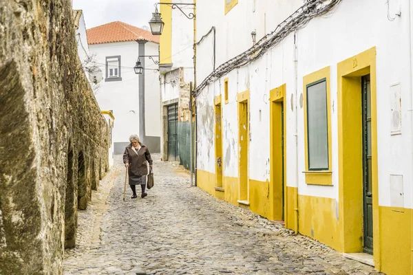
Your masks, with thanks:
M 153 42 L 145 44 L 145 55 L 154 56 L 158 61 L 159 45 Z M 145 58 L 145 68 L 158 69 L 158 65 Z M 160 85 L 159 71 L 145 70 L 145 133 L 151 137 L 160 136 Z

